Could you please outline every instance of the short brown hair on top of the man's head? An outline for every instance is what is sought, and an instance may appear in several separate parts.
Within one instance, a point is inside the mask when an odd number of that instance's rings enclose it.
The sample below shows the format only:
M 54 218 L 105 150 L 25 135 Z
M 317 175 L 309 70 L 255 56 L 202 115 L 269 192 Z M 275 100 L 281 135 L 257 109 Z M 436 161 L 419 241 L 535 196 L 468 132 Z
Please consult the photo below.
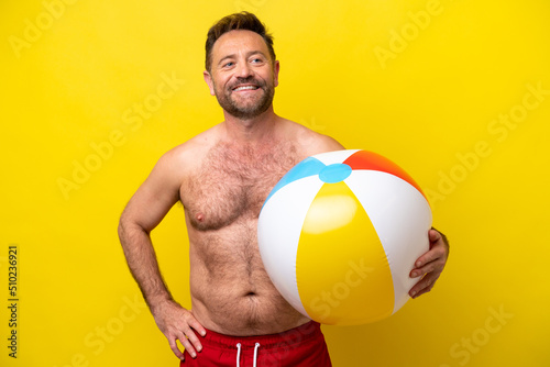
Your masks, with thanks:
M 265 44 L 267 45 L 267 49 L 270 51 L 270 55 L 272 60 L 275 60 L 275 51 L 273 49 L 273 36 L 267 33 L 265 25 L 256 18 L 256 15 L 249 13 L 248 11 L 243 11 L 240 13 L 234 13 L 231 15 L 227 15 L 218 21 L 215 25 L 210 27 L 208 31 L 207 42 L 206 42 L 206 69 L 210 71 L 212 66 L 212 47 L 216 41 L 223 33 L 234 31 L 234 30 L 244 30 L 252 31 L 262 36 L 264 38 Z

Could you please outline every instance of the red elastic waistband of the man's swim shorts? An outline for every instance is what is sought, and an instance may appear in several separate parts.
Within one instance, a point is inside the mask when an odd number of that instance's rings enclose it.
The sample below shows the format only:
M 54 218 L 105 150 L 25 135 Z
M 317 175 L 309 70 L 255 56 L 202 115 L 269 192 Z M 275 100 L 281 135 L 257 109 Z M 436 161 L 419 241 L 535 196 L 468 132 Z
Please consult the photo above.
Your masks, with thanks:
M 218 345 L 226 349 L 237 348 L 237 344 L 239 343 L 242 349 L 254 349 L 255 344 L 260 343 L 262 349 L 270 349 L 316 341 L 319 337 L 323 337 L 320 324 L 315 321 L 309 321 L 285 332 L 268 335 L 232 336 L 207 330 L 205 342 L 210 346 Z

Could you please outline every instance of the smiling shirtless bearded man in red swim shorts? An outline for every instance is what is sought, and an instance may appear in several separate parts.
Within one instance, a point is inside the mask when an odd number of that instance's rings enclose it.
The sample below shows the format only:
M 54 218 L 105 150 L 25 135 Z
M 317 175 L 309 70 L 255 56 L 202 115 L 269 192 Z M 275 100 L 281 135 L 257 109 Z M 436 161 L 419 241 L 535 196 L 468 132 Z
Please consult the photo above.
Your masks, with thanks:
M 229 15 L 212 26 L 206 68 L 224 121 L 163 155 L 128 203 L 119 236 L 130 270 L 182 366 L 252 358 L 254 366 L 330 366 L 319 325 L 293 309 L 265 273 L 256 224 L 265 198 L 289 168 L 343 146 L 275 114 L 279 63 L 253 14 Z M 190 310 L 172 298 L 150 237 L 177 201 L 189 235 Z M 444 236 L 435 230 L 429 236 L 430 251 L 411 269 L 420 279 L 413 297 L 431 290 L 447 262 Z

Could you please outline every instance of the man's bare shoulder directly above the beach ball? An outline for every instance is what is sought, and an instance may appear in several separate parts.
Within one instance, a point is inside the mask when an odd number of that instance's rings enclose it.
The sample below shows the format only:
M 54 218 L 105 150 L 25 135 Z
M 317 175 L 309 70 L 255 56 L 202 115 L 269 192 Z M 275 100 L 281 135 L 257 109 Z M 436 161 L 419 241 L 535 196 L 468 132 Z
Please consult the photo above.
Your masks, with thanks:
M 294 121 L 285 120 L 285 134 L 295 141 L 305 156 L 344 149 L 336 138 L 318 133 Z

